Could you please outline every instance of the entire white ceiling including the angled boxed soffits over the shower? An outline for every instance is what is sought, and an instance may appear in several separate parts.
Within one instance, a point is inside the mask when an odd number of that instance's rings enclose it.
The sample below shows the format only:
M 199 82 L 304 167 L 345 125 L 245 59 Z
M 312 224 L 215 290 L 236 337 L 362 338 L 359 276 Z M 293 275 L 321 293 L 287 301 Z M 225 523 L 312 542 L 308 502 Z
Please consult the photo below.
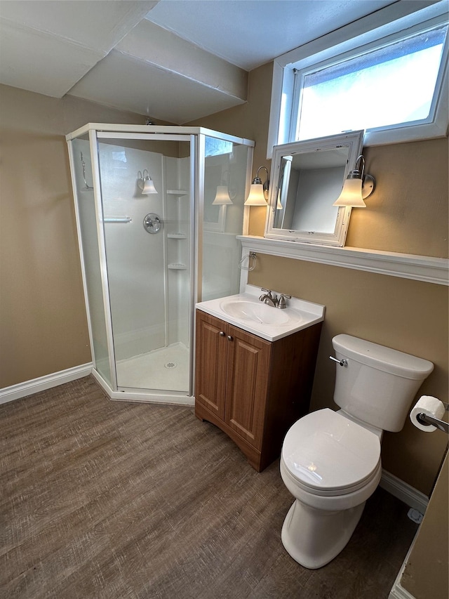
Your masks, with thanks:
M 244 103 L 253 68 L 394 1 L 3 0 L 0 83 L 185 124 Z

